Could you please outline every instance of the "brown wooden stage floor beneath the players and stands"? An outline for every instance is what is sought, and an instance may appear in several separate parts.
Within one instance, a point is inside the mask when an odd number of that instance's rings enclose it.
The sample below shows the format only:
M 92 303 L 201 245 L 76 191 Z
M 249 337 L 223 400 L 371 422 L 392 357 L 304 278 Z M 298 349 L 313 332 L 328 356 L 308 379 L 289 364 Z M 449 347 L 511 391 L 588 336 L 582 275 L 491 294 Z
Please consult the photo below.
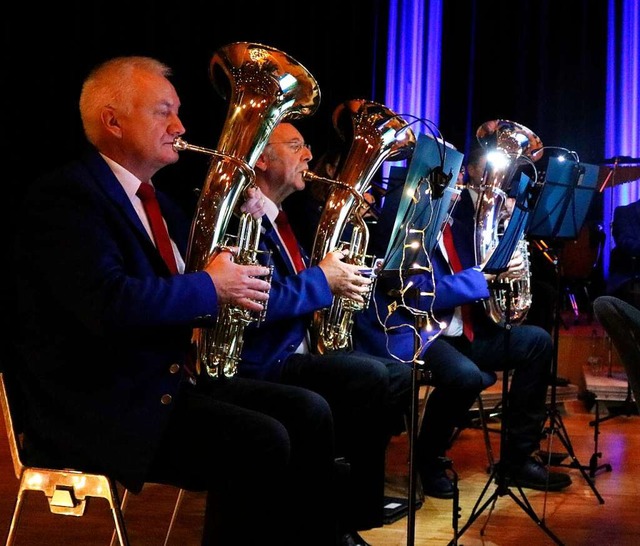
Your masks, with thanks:
M 573 448 L 576 461 L 588 467 L 594 456 L 595 427 L 593 399 L 584 399 L 586 364 L 589 340 L 594 325 L 579 325 L 562 332 L 560 340 L 560 375 L 569 376 L 576 388 L 573 395 L 558 405 L 558 415 L 566 437 Z M 597 325 L 595 325 L 597 327 Z M 587 348 L 585 349 L 585 345 Z M 622 389 L 613 396 L 620 398 Z M 620 394 L 622 392 L 622 395 Z M 601 392 L 601 413 L 606 414 L 610 398 L 605 404 Z M 607 396 L 611 397 L 611 392 Z M 624 398 L 624 396 L 622 396 Z M 485 407 L 487 407 L 485 405 Z M 498 423 L 499 426 L 499 423 Z M 4 540 L 11 518 L 17 481 L 8 453 L 4 427 L 0 427 L 0 541 Z M 499 434 L 490 434 L 492 449 L 499 453 Z M 557 434 L 550 435 L 550 451 L 566 451 Z M 547 447 L 546 445 L 543 447 Z M 637 415 L 620 415 L 599 425 L 598 448 L 601 457 L 596 463 L 610 464 L 596 472 L 579 468 L 560 468 L 568 472 L 572 485 L 563 492 L 548 493 L 523 490 L 536 517 L 562 544 L 591 546 L 611 544 L 636 546 L 640 544 L 640 421 Z M 406 495 L 409 471 L 407 436 L 395 437 L 389 447 L 387 489 L 390 495 Z M 459 478 L 459 521 L 457 533 L 468 521 L 474 504 L 488 484 L 487 495 L 495 485 L 488 482 L 487 453 L 481 430 L 464 429 L 455 440 L 449 456 Z M 588 478 L 588 479 L 587 479 Z M 600 502 L 593 488 L 604 502 Z M 518 493 L 517 489 L 512 489 Z M 314 494 L 309 491 L 309 494 Z M 132 546 L 161 545 L 175 502 L 176 491 L 169 487 L 151 486 L 131 498 L 126 519 Z M 487 498 L 486 496 L 484 497 Z M 251 502 L 248 492 L 247 502 Z M 301 499 L 304 502 L 304 499 Z M 188 493 L 171 544 L 197 546 L 201 530 L 203 496 Z M 241 507 L 239 507 L 241 508 Z M 454 527 L 453 503 L 449 500 L 426 498 L 415 513 L 415 525 L 410 529 L 406 517 L 378 529 L 362 533 L 372 546 L 464 544 L 464 546 L 555 544 L 543 528 L 523 511 L 509 495 L 497 496 L 493 511 L 483 511 L 465 532 L 458 536 Z M 247 522 L 250 524 L 250 522 Z M 96 501 L 82 518 L 51 515 L 41 495 L 30 494 L 22 516 L 16 546 L 68 546 L 109 544 L 111 519 L 106 502 Z

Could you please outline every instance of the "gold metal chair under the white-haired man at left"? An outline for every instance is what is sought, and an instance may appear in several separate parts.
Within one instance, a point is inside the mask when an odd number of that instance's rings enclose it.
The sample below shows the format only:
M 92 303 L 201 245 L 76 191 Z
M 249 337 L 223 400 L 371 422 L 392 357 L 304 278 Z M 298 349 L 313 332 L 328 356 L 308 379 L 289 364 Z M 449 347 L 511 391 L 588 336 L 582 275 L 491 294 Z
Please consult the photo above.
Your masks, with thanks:
M 7 429 L 9 451 L 13 460 L 16 478 L 20 482 L 13 517 L 9 525 L 6 546 L 11 546 L 15 540 L 22 504 L 27 491 L 41 491 L 47 497 L 49 510 L 54 514 L 80 517 L 84 515 L 87 503 L 91 497 L 103 498 L 109 503 L 114 522 L 114 532 L 111 545 L 119 543 L 129 546 L 129 539 L 124 522 L 123 512 L 127 504 L 129 492 L 125 489 L 122 501 L 119 500 L 115 480 L 102 474 L 89 474 L 72 469 L 36 468 L 24 464 L 24 450 L 22 444 L 22 429 L 20 416 L 17 413 L 15 399 L 12 406 L 10 401 L 11 388 L 5 373 L 0 372 L 0 405 Z M 12 412 L 12 407 L 14 411 Z M 164 544 L 168 544 L 169 536 L 176 520 L 178 509 L 184 497 L 184 490 L 178 492 L 178 499 L 173 510 L 169 529 Z

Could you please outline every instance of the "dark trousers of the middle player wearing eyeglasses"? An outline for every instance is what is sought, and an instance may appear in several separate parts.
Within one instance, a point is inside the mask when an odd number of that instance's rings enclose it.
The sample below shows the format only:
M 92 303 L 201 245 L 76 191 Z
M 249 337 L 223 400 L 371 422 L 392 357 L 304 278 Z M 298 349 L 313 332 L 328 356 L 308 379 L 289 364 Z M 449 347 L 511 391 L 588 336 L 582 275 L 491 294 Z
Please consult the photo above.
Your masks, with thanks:
M 383 525 L 386 448 L 398 419 L 410 407 L 411 368 L 360 352 L 294 354 L 282 382 L 321 394 L 331 407 L 336 453 L 350 465 L 343 527 Z

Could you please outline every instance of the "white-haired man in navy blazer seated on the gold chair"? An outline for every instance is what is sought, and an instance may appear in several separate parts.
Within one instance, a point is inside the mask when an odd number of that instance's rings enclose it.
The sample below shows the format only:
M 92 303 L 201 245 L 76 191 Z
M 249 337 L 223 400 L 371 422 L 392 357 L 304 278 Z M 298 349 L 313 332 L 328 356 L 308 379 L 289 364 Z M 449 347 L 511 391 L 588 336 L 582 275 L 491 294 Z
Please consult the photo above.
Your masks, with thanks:
M 178 160 L 185 131 L 169 75 L 147 57 L 92 71 L 80 113 L 93 149 L 36 183 L 21 211 L 7 371 L 24 402 L 27 456 L 106 473 L 132 492 L 145 482 L 206 491 L 203 545 L 335 544 L 326 401 L 238 377 L 194 384 L 187 372 L 192 329 L 212 325 L 224 303 L 260 311 L 269 269 L 222 252 L 183 273 L 188 219 L 160 192 L 164 221 L 146 216 L 136 192 Z M 259 201 L 247 211 L 261 214 Z M 149 228 L 165 222 L 171 266 Z

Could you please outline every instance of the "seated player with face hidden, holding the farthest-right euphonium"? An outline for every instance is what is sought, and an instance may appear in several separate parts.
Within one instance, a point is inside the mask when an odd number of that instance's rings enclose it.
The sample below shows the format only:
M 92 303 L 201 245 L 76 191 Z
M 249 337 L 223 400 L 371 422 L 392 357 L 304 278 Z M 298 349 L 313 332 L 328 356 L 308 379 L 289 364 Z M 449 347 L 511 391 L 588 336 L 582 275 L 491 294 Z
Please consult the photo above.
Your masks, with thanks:
M 480 160 L 480 156 L 474 157 Z M 470 176 L 474 173 L 481 176 L 483 167 L 470 163 L 467 172 Z M 416 289 L 424 293 L 433 292 L 435 282 L 435 299 L 421 304 L 425 310 L 431 309 L 445 328 L 421 355 L 430 374 L 429 383 L 434 387 L 426 402 L 417 442 L 416 458 L 422 486 L 428 496 L 454 497 L 454 486 L 446 473 L 443 458 L 455 428 L 466 422 L 468 411 L 481 391 L 495 383 L 496 372 L 513 370 L 508 460 L 501 462 L 506 465 L 507 476 L 514 485 L 558 491 L 570 485 L 571 478 L 563 472 L 550 472 L 545 466 L 547 458 L 541 457 L 539 451 L 553 356 L 551 336 L 538 326 L 511 325 L 509 360 L 505 361 L 504 328 L 489 320 L 482 306 L 482 300 L 490 295 L 488 282 L 493 276 L 483 273 L 482 264 L 475 262 L 471 194 L 474 186 L 476 184 L 471 183 L 462 191 L 454 208 L 450 223 L 453 249 L 446 248 L 443 234 L 431 257 L 433 279 L 429 274 L 411 277 Z M 373 236 L 372 241 L 382 248 L 386 246 L 382 236 Z M 454 252 L 461 262 L 460 270 L 454 266 Z M 518 274 L 521 268 L 522 257 L 514 254 L 506 274 Z M 355 347 L 380 356 L 388 356 L 389 347 L 392 347 L 394 356 L 411 361 L 413 332 L 408 328 L 397 329 L 385 342 L 383 329 L 374 315 L 376 308 L 385 309 L 393 300 L 380 280 L 374 298 L 377 305 L 356 317 Z M 404 320 L 412 324 L 414 318 L 406 313 Z

